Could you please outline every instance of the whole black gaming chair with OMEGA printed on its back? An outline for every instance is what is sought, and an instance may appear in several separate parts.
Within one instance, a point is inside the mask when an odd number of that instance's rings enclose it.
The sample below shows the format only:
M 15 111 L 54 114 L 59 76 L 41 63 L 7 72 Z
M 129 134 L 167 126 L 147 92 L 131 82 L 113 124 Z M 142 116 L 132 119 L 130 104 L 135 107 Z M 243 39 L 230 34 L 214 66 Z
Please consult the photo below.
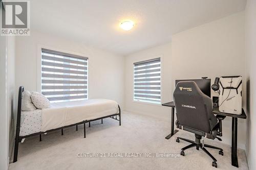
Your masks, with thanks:
M 176 141 L 185 140 L 191 144 L 181 149 L 181 155 L 189 148 L 201 148 L 212 159 L 212 166 L 217 167 L 217 159 L 212 156 L 206 149 L 212 148 L 220 150 L 219 154 L 223 155 L 223 149 L 208 144 L 202 144 L 202 136 L 209 139 L 219 139 L 217 131 L 220 128 L 218 119 L 212 113 L 212 101 L 205 95 L 193 81 L 181 81 L 177 84 L 174 91 L 174 103 L 177 114 L 177 128 L 194 133 L 195 141 L 177 137 Z

